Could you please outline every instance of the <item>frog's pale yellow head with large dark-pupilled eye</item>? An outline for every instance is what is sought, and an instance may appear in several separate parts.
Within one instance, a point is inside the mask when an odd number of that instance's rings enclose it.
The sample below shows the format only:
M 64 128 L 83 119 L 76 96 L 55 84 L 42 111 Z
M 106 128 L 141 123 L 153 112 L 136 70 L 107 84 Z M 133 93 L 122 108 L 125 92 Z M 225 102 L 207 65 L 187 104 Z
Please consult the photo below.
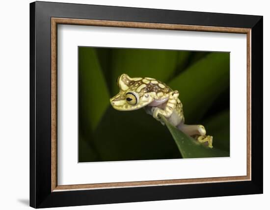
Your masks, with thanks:
M 130 78 L 122 74 L 117 79 L 119 93 L 110 99 L 113 108 L 120 111 L 131 111 L 149 105 L 154 101 L 155 92 L 149 92 L 143 78 Z

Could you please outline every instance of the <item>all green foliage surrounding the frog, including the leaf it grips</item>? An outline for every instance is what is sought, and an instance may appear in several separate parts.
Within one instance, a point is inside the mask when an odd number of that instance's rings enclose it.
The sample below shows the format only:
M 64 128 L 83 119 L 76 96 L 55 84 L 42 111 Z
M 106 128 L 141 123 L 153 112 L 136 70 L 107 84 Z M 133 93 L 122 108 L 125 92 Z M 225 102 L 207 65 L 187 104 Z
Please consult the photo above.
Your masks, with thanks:
M 109 98 L 118 93 L 122 73 L 179 90 L 186 123 L 204 125 L 214 150 L 143 109 L 113 109 Z M 229 76 L 229 53 L 80 47 L 79 161 L 229 156 Z M 178 141 L 183 137 L 184 146 Z

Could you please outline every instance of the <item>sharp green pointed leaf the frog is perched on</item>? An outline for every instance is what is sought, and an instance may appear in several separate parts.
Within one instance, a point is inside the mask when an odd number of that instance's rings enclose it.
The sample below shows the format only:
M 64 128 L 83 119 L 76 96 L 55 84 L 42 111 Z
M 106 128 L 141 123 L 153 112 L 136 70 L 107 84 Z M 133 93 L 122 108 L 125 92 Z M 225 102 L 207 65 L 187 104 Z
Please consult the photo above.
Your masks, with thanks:
M 209 148 L 195 139 L 187 136 L 182 131 L 178 130 L 176 127 L 171 125 L 165 117 L 160 115 L 162 120 L 165 122 L 168 130 L 171 132 L 171 135 L 182 155 L 183 158 L 194 158 L 194 157 L 229 157 L 229 153 L 219 149 Z M 214 144 L 213 144 L 214 145 Z

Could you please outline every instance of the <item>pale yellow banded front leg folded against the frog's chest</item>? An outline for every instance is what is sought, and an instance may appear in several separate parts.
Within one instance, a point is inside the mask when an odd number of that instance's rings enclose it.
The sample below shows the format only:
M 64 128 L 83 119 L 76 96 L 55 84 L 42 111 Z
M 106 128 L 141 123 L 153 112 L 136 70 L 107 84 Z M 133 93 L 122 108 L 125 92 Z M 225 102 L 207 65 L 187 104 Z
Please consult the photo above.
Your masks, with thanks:
M 172 115 L 173 110 L 176 107 L 178 96 L 179 96 L 179 92 L 177 90 L 170 92 L 168 101 L 164 109 L 155 107 L 153 111 L 153 117 L 156 120 L 161 121 L 161 122 L 162 122 L 162 119 L 159 116 L 159 114 L 163 115 L 166 118 L 170 117 Z

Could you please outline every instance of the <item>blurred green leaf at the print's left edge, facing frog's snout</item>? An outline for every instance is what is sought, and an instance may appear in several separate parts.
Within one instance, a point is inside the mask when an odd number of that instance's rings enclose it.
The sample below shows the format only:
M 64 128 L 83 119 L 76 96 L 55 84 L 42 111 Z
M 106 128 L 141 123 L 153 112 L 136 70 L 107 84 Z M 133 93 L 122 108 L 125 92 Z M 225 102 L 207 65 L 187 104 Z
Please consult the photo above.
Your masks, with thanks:
M 79 115 L 82 133 L 94 131 L 109 105 L 109 93 L 95 49 L 79 48 Z

